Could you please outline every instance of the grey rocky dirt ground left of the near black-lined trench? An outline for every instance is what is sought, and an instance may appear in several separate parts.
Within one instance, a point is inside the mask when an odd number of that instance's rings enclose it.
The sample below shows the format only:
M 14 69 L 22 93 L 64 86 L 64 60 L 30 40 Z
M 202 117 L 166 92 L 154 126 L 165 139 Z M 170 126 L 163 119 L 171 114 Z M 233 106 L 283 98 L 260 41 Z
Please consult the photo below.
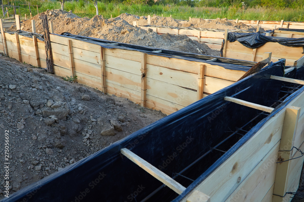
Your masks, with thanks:
M 0 133 L 9 130 L 10 194 L 164 116 L 0 56 Z M 4 165 L 5 138 L 0 145 Z M 4 166 L 0 172 L 3 185 Z

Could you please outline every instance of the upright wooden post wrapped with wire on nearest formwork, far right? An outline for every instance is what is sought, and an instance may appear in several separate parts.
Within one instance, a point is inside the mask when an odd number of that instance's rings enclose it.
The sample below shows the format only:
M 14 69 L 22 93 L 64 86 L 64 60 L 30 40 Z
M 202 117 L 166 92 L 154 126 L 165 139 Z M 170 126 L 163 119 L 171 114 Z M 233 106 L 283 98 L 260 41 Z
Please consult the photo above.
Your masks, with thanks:
M 292 158 L 293 140 L 296 135 L 296 129 L 298 126 L 299 115 L 301 108 L 289 106 L 286 108 L 285 118 L 282 129 L 282 136 L 280 142 L 280 148 L 278 152 L 278 162 L 285 161 L 277 164 L 277 170 L 275 174 L 275 185 L 273 193 L 284 196 L 288 185 L 288 170 L 291 169 L 290 164 L 292 161 L 286 161 Z M 289 198 L 289 196 L 288 196 Z M 283 197 L 273 195 L 272 201 L 283 202 Z

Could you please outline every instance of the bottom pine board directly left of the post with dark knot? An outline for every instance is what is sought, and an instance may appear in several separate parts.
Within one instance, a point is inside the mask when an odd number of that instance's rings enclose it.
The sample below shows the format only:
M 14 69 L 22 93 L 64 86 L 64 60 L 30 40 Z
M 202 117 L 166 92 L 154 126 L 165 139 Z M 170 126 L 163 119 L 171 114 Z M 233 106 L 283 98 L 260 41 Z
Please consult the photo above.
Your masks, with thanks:
M 107 81 L 107 94 L 127 98 L 135 104 L 140 104 L 140 92 L 125 88 L 120 85 L 112 84 Z

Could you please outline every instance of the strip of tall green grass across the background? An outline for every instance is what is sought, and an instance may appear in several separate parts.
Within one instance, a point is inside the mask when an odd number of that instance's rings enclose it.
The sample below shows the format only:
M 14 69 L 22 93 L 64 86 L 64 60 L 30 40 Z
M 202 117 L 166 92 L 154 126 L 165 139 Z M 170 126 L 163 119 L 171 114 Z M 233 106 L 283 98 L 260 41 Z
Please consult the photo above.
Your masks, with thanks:
M 25 3 L 21 0 L 16 1 L 18 3 Z M 15 4 L 15 5 L 16 5 Z M 60 3 L 56 1 L 45 1 L 31 0 L 31 4 L 41 5 L 39 11 L 45 11 L 47 9 L 59 9 Z M 74 2 L 65 2 L 64 9 L 66 11 L 72 10 L 73 13 L 80 17 L 87 16 L 92 18 L 95 15 L 95 7 L 92 3 L 85 2 L 83 0 Z M 104 18 L 110 18 L 112 15 L 116 17 L 121 13 L 130 13 L 135 15 L 162 15 L 168 17 L 172 15 L 175 19 L 189 19 L 192 18 L 228 18 L 228 19 L 242 19 L 242 20 L 275 20 L 275 21 L 304 21 L 304 7 L 299 8 L 282 8 L 282 9 L 267 9 L 264 7 L 255 8 L 237 8 L 234 6 L 230 7 L 189 7 L 189 6 L 178 6 L 178 5 L 127 5 L 124 3 L 104 3 L 98 2 L 99 15 L 103 15 Z M 37 14 L 36 7 L 31 7 L 32 15 Z M 17 10 L 17 13 L 19 11 Z M 29 16 L 28 6 L 20 7 L 21 16 L 24 17 L 26 13 Z M 9 13 L 13 13 L 13 9 L 9 9 Z M 0 14 L 1 15 L 1 14 Z M 3 17 L 2 17 L 3 18 Z

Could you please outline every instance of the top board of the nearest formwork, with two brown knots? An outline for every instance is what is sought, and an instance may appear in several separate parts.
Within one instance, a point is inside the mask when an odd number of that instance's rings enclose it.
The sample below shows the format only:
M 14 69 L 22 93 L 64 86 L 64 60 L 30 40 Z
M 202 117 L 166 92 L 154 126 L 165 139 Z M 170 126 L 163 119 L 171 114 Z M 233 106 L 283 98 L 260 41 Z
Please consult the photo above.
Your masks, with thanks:
M 201 184 L 195 187 L 211 197 L 211 201 L 223 201 L 238 187 L 242 179 L 260 163 L 261 159 L 281 138 L 285 111 L 271 117 L 253 137 L 213 171 Z M 225 194 L 223 194 L 225 193 Z M 182 200 L 185 201 L 185 200 Z

